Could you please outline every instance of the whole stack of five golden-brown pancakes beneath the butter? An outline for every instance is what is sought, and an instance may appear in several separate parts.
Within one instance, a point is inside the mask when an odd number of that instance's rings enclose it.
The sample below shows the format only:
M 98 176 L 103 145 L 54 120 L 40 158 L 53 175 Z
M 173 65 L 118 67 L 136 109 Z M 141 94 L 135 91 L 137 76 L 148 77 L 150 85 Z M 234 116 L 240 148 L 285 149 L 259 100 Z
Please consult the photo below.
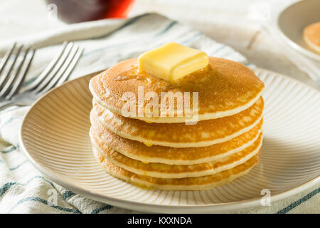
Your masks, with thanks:
M 128 92 L 198 92 L 198 122 L 186 115 L 124 116 Z M 246 66 L 210 57 L 177 81 L 137 71 L 137 58 L 90 81 L 92 150 L 110 175 L 161 190 L 205 190 L 245 175 L 260 160 L 264 84 Z M 177 99 L 176 99 L 177 100 Z M 175 108 L 178 103 L 174 102 Z M 144 110 L 151 102 L 134 103 Z M 184 107 L 184 106 L 183 106 Z M 168 113 L 167 113 L 168 114 Z

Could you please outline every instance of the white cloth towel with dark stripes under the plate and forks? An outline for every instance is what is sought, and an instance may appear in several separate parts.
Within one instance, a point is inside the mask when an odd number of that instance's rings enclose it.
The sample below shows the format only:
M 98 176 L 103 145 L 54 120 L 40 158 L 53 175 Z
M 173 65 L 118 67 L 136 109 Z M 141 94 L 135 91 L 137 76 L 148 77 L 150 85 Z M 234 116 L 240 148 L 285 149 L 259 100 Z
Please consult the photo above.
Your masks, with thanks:
M 218 32 L 218 31 L 217 31 Z M 18 42 L 38 48 L 24 87 L 33 82 L 58 53 L 60 43 L 75 41 L 85 52 L 70 78 L 100 71 L 126 58 L 139 56 L 163 43 L 174 41 L 254 67 L 240 53 L 203 33 L 158 14 L 132 19 L 105 19 L 66 25 L 55 31 L 21 38 Z M 8 43 L 0 43 L 0 55 Z M 95 202 L 43 177 L 19 150 L 18 130 L 28 107 L 0 112 L 0 212 L 1 213 L 132 213 L 127 209 Z M 252 213 L 319 212 L 319 186 Z M 309 200 L 317 198 L 318 200 Z

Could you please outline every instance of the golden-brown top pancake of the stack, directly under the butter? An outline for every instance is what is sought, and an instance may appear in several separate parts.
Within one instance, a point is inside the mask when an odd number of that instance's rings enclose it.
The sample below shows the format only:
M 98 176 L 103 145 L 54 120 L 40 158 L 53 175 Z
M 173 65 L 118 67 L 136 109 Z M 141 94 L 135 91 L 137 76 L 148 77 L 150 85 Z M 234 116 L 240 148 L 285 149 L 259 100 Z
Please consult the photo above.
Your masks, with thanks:
M 264 84 L 250 68 L 215 57 L 209 58 L 206 68 L 176 81 L 169 82 L 148 73 L 138 72 L 137 58 L 117 63 L 90 80 L 90 91 L 97 103 L 117 115 L 122 115 L 122 109 L 126 106 L 127 100 L 122 99 L 122 95 L 130 92 L 138 99 L 139 86 L 143 88 L 144 95 L 152 92 L 159 98 L 162 92 L 182 94 L 190 92 L 191 110 L 193 110 L 193 92 L 198 92 L 198 120 L 223 118 L 240 113 L 256 103 L 264 89 Z M 182 100 L 184 103 L 185 99 Z M 180 103 L 178 99 L 174 100 L 174 110 L 178 109 Z M 190 119 L 184 107 L 181 115 L 175 113 L 174 116 L 169 116 L 169 113 L 165 112 L 168 104 L 169 102 L 162 106 L 164 110 L 161 110 L 159 105 L 159 117 L 150 116 L 151 113 L 146 112 L 150 100 L 144 99 L 141 104 L 142 116 L 129 117 L 154 123 L 183 123 Z M 137 111 L 138 100 L 134 106 Z M 191 114 L 195 115 L 196 112 Z

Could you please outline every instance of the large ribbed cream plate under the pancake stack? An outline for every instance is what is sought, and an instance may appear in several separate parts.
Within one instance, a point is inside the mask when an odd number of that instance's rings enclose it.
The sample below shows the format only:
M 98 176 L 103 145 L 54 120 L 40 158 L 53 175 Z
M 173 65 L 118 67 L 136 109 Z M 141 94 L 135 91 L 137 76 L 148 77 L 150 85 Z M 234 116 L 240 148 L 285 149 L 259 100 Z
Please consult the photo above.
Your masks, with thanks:
M 143 212 L 230 212 L 276 201 L 319 183 L 320 95 L 298 81 L 256 71 L 265 82 L 262 160 L 244 177 L 206 191 L 145 190 L 108 175 L 92 156 L 89 113 L 92 75 L 39 99 L 21 126 L 21 148 L 43 175 L 100 202 Z

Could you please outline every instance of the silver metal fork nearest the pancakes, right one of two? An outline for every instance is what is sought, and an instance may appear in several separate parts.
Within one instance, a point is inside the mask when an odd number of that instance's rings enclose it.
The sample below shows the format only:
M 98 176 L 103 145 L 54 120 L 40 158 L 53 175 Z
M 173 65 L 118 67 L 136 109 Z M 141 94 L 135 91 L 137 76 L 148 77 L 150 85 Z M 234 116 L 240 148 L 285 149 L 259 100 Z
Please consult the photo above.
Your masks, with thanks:
M 60 86 L 63 82 L 67 81 L 73 68 L 78 63 L 82 51 L 83 48 L 80 48 L 78 45 L 64 42 L 62 51 L 53 58 L 33 83 L 26 86 L 25 91 L 12 96 L 9 100 L 0 100 L 0 110 L 13 105 L 31 105 L 51 88 Z

